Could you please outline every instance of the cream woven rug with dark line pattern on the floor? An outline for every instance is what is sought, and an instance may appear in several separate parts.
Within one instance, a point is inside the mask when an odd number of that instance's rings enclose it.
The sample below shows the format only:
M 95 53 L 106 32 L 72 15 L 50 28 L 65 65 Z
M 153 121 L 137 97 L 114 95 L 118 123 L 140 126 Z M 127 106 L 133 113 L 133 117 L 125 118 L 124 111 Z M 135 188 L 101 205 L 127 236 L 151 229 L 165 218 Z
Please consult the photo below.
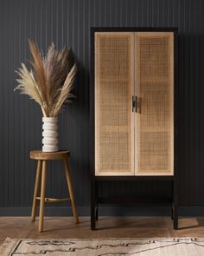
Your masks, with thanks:
M 0 255 L 204 255 L 204 239 L 17 240 L 7 238 Z

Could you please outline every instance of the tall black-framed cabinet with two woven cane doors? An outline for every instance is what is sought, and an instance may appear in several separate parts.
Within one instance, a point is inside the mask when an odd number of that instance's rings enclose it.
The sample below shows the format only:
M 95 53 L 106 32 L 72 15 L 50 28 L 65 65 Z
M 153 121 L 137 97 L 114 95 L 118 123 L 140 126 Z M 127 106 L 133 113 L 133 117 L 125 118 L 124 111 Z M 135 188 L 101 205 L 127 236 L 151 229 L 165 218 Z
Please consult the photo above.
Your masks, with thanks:
M 100 180 L 156 178 L 173 183 L 176 228 L 176 30 L 93 28 L 91 40 L 92 229 Z

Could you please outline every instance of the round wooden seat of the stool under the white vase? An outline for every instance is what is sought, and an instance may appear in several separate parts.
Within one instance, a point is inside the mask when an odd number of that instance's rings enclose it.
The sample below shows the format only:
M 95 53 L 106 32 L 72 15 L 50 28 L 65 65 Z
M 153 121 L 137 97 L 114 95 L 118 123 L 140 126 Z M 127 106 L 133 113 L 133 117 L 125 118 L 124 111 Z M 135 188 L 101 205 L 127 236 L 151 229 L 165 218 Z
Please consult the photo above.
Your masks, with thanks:
M 68 150 L 60 150 L 56 152 L 42 152 L 42 150 L 30 151 L 30 158 L 35 160 L 57 160 L 65 159 L 69 156 L 70 152 Z

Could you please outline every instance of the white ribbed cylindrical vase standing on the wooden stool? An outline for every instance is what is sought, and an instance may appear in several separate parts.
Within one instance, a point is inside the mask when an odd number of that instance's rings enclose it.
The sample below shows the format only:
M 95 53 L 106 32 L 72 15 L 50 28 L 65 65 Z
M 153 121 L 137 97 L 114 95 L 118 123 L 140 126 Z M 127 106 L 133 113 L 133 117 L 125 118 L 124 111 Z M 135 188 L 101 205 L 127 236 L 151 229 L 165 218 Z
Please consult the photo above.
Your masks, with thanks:
M 42 152 L 58 151 L 57 117 L 42 117 Z

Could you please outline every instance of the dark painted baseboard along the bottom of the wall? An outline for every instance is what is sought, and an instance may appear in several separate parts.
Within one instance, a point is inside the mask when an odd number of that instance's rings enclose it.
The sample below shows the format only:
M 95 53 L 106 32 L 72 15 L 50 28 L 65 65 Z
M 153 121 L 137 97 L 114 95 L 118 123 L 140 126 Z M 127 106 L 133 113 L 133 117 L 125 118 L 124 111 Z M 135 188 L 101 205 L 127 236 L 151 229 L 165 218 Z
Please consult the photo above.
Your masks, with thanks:
M 90 216 L 90 207 L 77 207 L 80 216 Z M 29 216 L 31 207 L 0 207 L 0 216 Z M 71 207 L 46 207 L 47 216 L 71 216 Z M 100 216 L 169 216 L 170 207 L 99 207 Z M 180 216 L 204 216 L 204 207 L 179 207 Z

